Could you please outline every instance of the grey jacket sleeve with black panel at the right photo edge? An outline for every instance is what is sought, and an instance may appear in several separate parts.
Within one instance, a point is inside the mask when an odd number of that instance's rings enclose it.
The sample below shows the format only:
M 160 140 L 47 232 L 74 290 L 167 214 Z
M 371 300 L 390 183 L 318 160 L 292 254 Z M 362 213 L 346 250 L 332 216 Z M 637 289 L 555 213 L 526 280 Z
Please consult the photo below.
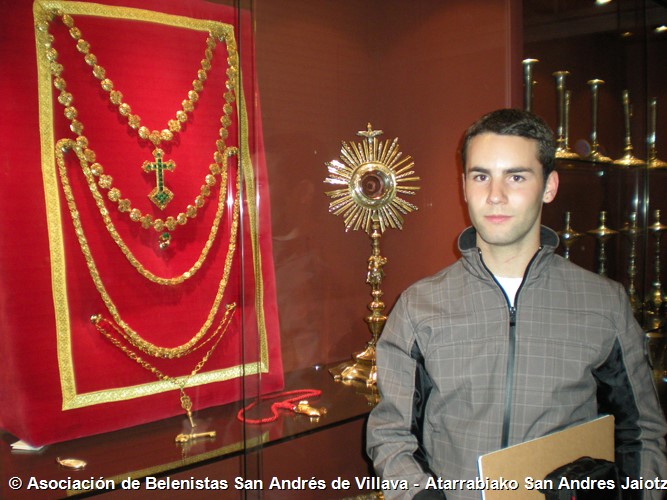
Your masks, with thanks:
M 648 366 L 644 332 L 620 285 L 616 296 L 614 320 L 618 333 L 606 361 L 594 372 L 599 411 L 615 418 L 616 464 L 621 484 L 626 477 L 667 479 L 667 427 Z M 628 490 L 624 494 L 624 498 L 661 499 L 664 491 Z

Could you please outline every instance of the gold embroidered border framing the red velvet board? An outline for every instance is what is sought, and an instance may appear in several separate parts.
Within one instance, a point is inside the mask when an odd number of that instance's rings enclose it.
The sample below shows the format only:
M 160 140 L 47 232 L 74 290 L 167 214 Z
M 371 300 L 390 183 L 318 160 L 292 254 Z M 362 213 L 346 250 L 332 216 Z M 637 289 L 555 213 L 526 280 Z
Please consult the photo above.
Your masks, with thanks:
M 43 20 L 45 12 L 51 9 L 60 9 L 66 14 L 81 14 L 87 16 L 145 21 L 196 31 L 222 30 L 223 32 L 228 33 L 232 39 L 235 38 L 234 27 L 232 25 L 217 21 L 193 19 L 131 7 L 114 7 L 88 2 L 35 0 L 35 3 L 33 4 L 35 22 Z M 77 392 L 71 349 L 71 324 L 69 320 L 69 303 L 67 296 L 65 248 L 63 243 L 60 197 L 58 194 L 58 181 L 56 178 L 55 166 L 55 137 L 53 130 L 54 111 L 52 106 L 51 74 L 48 61 L 45 57 L 46 47 L 41 45 L 37 38 L 35 38 L 35 45 L 37 51 L 42 180 L 44 183 L 49 253 L 51 257 L 51 288 L 53 291 L 56 323 L 58 368 L 60 371 L 60 383 L 63 396 L 62 409 L 70 410 L 96 404 L 124 401 L 174 390 L 173 384 L 159 381 L 88 393 Z M 240 98 L 237 99 L 236 110 L 237 116 L 239 117 L 239 132 L 241 134 L 239 141 L 241 150 L 239 167 L 242 175 L 242 182 L 244 182 L 245 185 L 245 206 L 248 210 L 250 223 L 250 240 L 252 246 L 253 271 L 255 275 L 255 311 L 259 334 L 260 357 L 259 361 L 256 362 L 245 363 L 205 373 L 198 373 L 191 377 L 186 387 L 221 382 L 246 375 L 268 373 L 269 371 L 268 339 L 264 316 L 262 255 L 259 247 L 256 206 L 253 204 L 256 199 L 256 191 L 254 172 L 250 159 L 250 146 L 248 144 L 249 125 L 242 81 L 240 75 L 238 92 Z

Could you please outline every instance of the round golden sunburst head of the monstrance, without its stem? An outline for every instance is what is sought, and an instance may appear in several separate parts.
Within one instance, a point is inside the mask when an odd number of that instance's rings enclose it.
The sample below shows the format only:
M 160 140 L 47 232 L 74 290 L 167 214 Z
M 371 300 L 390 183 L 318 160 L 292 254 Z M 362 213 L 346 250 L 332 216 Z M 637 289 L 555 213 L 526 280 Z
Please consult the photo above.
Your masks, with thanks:
M 410 156 L 403 157 L 398 138 L 381 142 L 381 134 L 369 123 L 367 130 L 357 132 L 364 141 L 343 142 L 340 161 L 326 163 L 329 177 L 324 182 L 344 186 L 326 192 L 333 199 L 329 212 L 343 217 L 346 231 L 363 228 L 371 234 L 373 221 L 379 223 L 380 232 L 387 227 L 403 229 L 403 215 L 417 210 L 399 196 L 413 196 L 419 189 L 405 185 L 419 180 L 413 175 L 414 162 Z

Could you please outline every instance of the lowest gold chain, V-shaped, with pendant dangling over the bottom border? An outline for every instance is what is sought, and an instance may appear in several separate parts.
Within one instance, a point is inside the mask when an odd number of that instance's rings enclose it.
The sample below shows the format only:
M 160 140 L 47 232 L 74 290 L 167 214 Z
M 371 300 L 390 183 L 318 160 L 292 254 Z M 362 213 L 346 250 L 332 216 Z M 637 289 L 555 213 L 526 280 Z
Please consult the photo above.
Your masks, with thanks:
M 148 361 L 141 358 L 141 356 L 139 356 L 132 349 L 130 349 L 126 345 L 123 345 L 123 343 L 118 338 L 114 337 L 111 332 L 105 329 L 104 325 L 111 327 L 111 329 L 117 335 L 120 335 L 121 337 L 127 340 L 127 337 L 125 336 L 123 331 L 119 329 L 116 325 L 111 323 L 109 320 L 103 318 L 101 314 L 96 314 L 92 316 L 90 320 L 93 323 L 93 325 L 95 325 L 97 331 L 101 333 L 107 340 L 109 340 L 109 342 L 111 342 L 115 347 L 120 349 L 128 358 L 130 358 L 133 361 L 136 361 L 142 368 L 151 372 L 158 379 L 165 380 L 178 387 L 178 389 L 180 390 L 181 407 L 183 408 L 183 410 L 185 410 L 185 413 L 188 416 L 188 419 L 190 421 L 190 426 L 194 428 L 195 423 L 194 420 L 192 419 L 192 399 L 190 399 L 190 396 L 186 394 L 185 386 L 187 385 L 190 378 L 195 376 L 204 367 L 206 362 L 213 354 L 213 351 L 215 351 L 216 347 L 218 347 L 218 344 L 225 336 L 225 333 L 227 332 L 227 329 L 229 328 L 229 325 L 232 322 L 232 315 L 235 310 L 236 310 L 235 303 L 227 304 L 225 308 L 225 315 L 223 316 L 222 320 L 220 321 L 220 324 L 215 329 L 215 331 L 211 334 L 209 338 L 207 338 L 204 342 L 202 342 L 198 347 L 192 349 L 190 352 L 193 352 L 203 347 L 204 344 L 208 343 L 214 338 L 216 339 L 215 342 L 213 343 L 211 348 L 206 352 L 206 354 L 204 354 L 199 363 L 195 365 L 194 369 L 190 372 L 190 374 L 182 377 L 172 377 L 170 375 L 165 374 L 162 370 L 156 368 L 155 366 L 151 365 Z

